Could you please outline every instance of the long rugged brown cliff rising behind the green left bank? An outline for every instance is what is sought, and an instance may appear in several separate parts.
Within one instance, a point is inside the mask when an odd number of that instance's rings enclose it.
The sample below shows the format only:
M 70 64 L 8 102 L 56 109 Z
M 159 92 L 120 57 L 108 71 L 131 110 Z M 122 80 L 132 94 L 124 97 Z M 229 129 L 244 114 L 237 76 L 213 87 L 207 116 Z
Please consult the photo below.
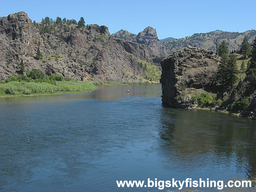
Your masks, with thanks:
M 141 81 L 145 72 L 140 61 L 157 62 L 150 48 L 113 38 L 106 26 L 73 25 L 74 30 L 64 30 L 70 26 L 46 25 L 51 34 L 40 35 L 25 12 L 0 17 L 0 80 L 20 74 L 21 60 L 25 71 L 38 68 L 82 81 Z M 36 58 L 38 48 L 41 59 Z

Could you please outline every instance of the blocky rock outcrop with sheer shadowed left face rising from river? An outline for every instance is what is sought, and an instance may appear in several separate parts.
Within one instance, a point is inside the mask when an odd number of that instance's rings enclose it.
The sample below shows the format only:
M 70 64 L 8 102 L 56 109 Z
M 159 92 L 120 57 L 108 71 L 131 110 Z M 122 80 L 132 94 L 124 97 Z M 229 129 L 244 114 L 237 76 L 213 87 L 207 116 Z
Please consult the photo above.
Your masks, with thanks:
M 218 56 L 202 48 L 186 47 L 161 61 L 164 105 L 177 108 L 194 108 L 189 102 L 191 93 L 205 92 L 213 87 L 218 66 Z

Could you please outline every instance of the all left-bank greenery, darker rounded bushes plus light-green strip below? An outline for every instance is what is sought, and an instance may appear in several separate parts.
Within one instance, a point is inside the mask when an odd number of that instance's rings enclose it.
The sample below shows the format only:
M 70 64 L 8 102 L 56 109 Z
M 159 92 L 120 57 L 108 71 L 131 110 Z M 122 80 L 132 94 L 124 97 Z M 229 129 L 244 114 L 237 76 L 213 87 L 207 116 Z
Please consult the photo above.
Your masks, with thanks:
M 38 69 L 26 74 L 7 78 L 0 84 L 0 96 L 86 92 L 96 88 L 92 82 L 72 81 L 59 74 L 47 76 Z

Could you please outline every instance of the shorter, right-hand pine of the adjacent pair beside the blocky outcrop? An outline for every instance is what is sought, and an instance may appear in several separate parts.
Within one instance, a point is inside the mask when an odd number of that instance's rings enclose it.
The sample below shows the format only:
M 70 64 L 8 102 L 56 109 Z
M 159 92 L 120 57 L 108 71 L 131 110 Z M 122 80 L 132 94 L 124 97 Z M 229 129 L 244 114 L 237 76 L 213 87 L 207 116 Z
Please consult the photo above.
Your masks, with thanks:
M 233 84 L 236 83 L 238 80 L 237 74 L 239 73 L 239 70 L 237 68 L 237 57 L 236 55 L 231 54 L 230 60 L 227 63 L 227 70 L 226 70 L 226 82 L 225 87 L 232 89 Z

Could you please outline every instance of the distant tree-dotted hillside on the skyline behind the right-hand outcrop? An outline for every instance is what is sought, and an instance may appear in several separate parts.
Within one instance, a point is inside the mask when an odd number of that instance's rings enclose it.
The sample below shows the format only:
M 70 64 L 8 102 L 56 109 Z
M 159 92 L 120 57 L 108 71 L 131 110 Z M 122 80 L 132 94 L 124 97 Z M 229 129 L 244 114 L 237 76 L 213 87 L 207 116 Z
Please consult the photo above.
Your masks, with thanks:
M 172 51 L 175 52 L 183 47 L 192 46 L 192 47 L 201 47 L 207 50 L 216 51 L 216 39 L 218 44 L 221 41 L 226 41 L 229 47 L 229 50 L 237 50 L 240 48 L 240 45 L 244 39 L 244 36 L 247 36 L 250 43 L 253 42 L 253 39 L 256 36 L 256 30 L 249 30 L 243 33 L 239 32 L 224 32 L 216 30 L 208 33 L 195 33 L 192 36 L 181 38 L 172 41 L 165 41 L 166 46 Z

